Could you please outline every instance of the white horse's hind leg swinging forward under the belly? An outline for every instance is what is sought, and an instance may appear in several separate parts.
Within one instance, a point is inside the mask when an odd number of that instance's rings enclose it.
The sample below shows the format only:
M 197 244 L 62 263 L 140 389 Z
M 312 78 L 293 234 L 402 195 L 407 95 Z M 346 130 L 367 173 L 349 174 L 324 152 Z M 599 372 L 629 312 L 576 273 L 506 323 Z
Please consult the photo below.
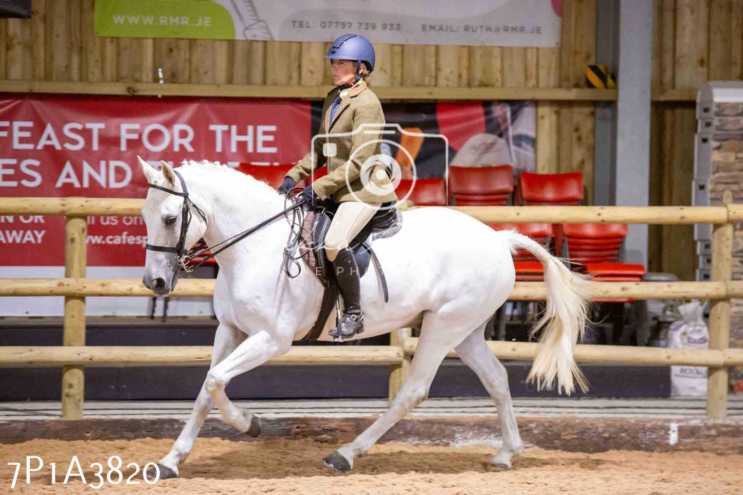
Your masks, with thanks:
M 387 430 L 428 397 L 431 382 L 441 361 L 447 356 L 447 352 L 472 331 L 472 324 L 463 325 L 463 320 L 465 318 L 461 314 L 450 314 L 448 317 L 429 312 L 424 314 L 418 348 L 410 363 L 408 378 L 400 387 L 398 396 L 389 409 L 354 441 L 322 459 L 325 465 L 341 473 L 350 470 L 355 456 L 365 454 Z

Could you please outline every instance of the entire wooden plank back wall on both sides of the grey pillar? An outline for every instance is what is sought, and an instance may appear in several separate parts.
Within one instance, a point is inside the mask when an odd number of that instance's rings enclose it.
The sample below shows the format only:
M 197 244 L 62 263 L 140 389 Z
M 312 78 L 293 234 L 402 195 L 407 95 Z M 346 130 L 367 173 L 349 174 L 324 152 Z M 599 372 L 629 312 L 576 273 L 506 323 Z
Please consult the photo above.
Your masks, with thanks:
M 653 0 L 654 90 L 743 77 L 743 0 Z M 574 88 L 596 61 L 596 0 L 562 1 L 559 48 L 376 45 L 377 86 Z M 94 0 L 33 0 L 33 19 L 0 19 L 0 79 L 331 85 L 326 43 L 99 38 Z M 598 61 L 601 62 L 601 61 Z M 538 172 L 583 172 L 593 198 L 594 104 L 539 101 Z M 652 204 L 690 204 L 692 103 L 655 103 Z M 684 246 L 684 249 L 679 249 Z M 651 227 L 649 269 L 695 276 L 689 226 Z

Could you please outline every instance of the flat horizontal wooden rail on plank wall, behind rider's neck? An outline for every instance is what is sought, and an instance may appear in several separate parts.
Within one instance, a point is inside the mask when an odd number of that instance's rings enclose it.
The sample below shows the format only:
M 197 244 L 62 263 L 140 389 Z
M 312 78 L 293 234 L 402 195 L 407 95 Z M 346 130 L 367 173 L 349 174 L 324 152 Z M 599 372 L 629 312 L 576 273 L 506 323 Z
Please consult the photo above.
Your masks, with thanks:
M 322 100 L 330 85 L 242 85 L 179 83 L 87 83 L 0 80 L 11 93 L 118 94 L 172 97 L 299 98 Z M 616 89 L 593 88 L 443 88 L 374 86 L 380 100 L 569 100 L 616 101 Z

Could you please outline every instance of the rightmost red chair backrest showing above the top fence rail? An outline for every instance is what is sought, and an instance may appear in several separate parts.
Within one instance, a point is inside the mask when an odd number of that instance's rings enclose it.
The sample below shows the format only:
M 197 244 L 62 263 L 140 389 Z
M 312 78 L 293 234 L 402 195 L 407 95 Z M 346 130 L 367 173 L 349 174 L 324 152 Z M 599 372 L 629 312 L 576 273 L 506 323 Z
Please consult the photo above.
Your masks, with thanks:
M 583 174 L 571 172 L 566 174 L 535 174 L 521 172 L 519 177 L 519 196 L 522 204 L 545 205 L 559 204 L 571 206 L 583 203 Z M 562 253 L 562 227 L 552 226 L 554 233 L 554 251 Z

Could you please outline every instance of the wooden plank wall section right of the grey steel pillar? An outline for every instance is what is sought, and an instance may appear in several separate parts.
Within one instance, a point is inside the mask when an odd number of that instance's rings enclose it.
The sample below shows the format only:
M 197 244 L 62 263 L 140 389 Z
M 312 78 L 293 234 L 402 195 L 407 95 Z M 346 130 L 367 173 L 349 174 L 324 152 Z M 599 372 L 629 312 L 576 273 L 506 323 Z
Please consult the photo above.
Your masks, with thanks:
M 654 1 L 654 90 L 742 79 L 743 0 Z M 691 204 L 694 103 L 655 103 L 651 128 L 650 204 Z M 649 270 L 694 279 L 697 261 L 692 226 L 651 226 Z

